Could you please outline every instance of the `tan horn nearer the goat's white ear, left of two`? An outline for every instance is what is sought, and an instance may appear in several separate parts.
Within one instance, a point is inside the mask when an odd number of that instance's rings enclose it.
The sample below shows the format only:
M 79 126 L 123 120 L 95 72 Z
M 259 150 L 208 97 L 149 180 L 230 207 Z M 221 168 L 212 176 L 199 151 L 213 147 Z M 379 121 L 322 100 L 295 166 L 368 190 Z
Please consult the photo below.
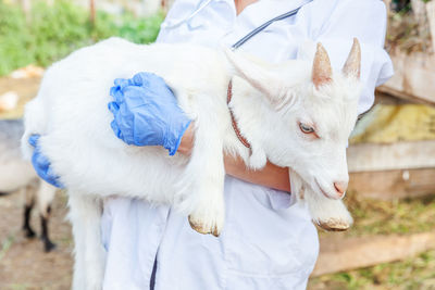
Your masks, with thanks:
M 321 86 L 330 84 L 333 79 L 333 70 L 331 67 L 330 56 L 320 42 L 318 43 L 318 50 L 315 51 L 311 77 L 318 89 Z

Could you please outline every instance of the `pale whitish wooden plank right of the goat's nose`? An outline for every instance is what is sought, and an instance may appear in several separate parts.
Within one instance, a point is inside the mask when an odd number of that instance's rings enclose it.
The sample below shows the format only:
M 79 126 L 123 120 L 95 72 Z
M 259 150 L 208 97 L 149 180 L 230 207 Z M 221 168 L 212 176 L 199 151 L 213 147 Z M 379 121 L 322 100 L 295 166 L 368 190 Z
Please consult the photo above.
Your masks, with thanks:
M 347 150 L 349 172 L 435 167 L 435 140 L 391 144 L 352 144 Z

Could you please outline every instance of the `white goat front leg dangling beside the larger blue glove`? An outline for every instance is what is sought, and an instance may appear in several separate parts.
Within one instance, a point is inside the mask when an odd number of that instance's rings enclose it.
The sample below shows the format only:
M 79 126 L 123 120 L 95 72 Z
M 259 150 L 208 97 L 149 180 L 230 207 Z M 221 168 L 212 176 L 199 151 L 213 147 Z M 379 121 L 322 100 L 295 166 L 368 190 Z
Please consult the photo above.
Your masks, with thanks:
M 215 237 L 222 231 L 225 216 L 224 134 L 217 123 L 211 118 L 195 123 L 195 144 L 176 201 L 178 209 L 188 214 L 192 229 Z

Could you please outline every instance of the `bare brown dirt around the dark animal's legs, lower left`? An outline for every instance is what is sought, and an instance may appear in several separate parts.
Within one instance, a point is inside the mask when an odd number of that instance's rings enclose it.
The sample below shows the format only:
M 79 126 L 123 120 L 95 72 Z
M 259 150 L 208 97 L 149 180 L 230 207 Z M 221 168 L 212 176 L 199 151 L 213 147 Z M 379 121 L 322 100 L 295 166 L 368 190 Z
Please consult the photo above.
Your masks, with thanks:
M 50 235 L 58 245 L 45 253 L 39 238 L 26 239 L 22 231 L 24 197 L 0 196 L 0 289 L 70 289 L 73 240 L 65 220 L 66 197 L 58 192 L 50 218 Z M 40 234 L 37 210 L 32 226 Z

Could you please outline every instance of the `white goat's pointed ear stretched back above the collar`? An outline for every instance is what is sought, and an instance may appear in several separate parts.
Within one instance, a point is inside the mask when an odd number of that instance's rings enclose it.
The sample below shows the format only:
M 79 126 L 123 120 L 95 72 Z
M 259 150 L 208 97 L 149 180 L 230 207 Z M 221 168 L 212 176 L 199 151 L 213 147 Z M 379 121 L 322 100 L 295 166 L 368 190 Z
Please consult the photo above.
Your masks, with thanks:
M 235 53 L 231 49 L 224 49 L 226 58 L 236 71 L 236 74 L 247 80 L 252 87 L 264 93 L 271 101 L 278 98 L 283 91 L 283 84 L 276 77 L 268 73 L 268 70 L 248 58 Z

